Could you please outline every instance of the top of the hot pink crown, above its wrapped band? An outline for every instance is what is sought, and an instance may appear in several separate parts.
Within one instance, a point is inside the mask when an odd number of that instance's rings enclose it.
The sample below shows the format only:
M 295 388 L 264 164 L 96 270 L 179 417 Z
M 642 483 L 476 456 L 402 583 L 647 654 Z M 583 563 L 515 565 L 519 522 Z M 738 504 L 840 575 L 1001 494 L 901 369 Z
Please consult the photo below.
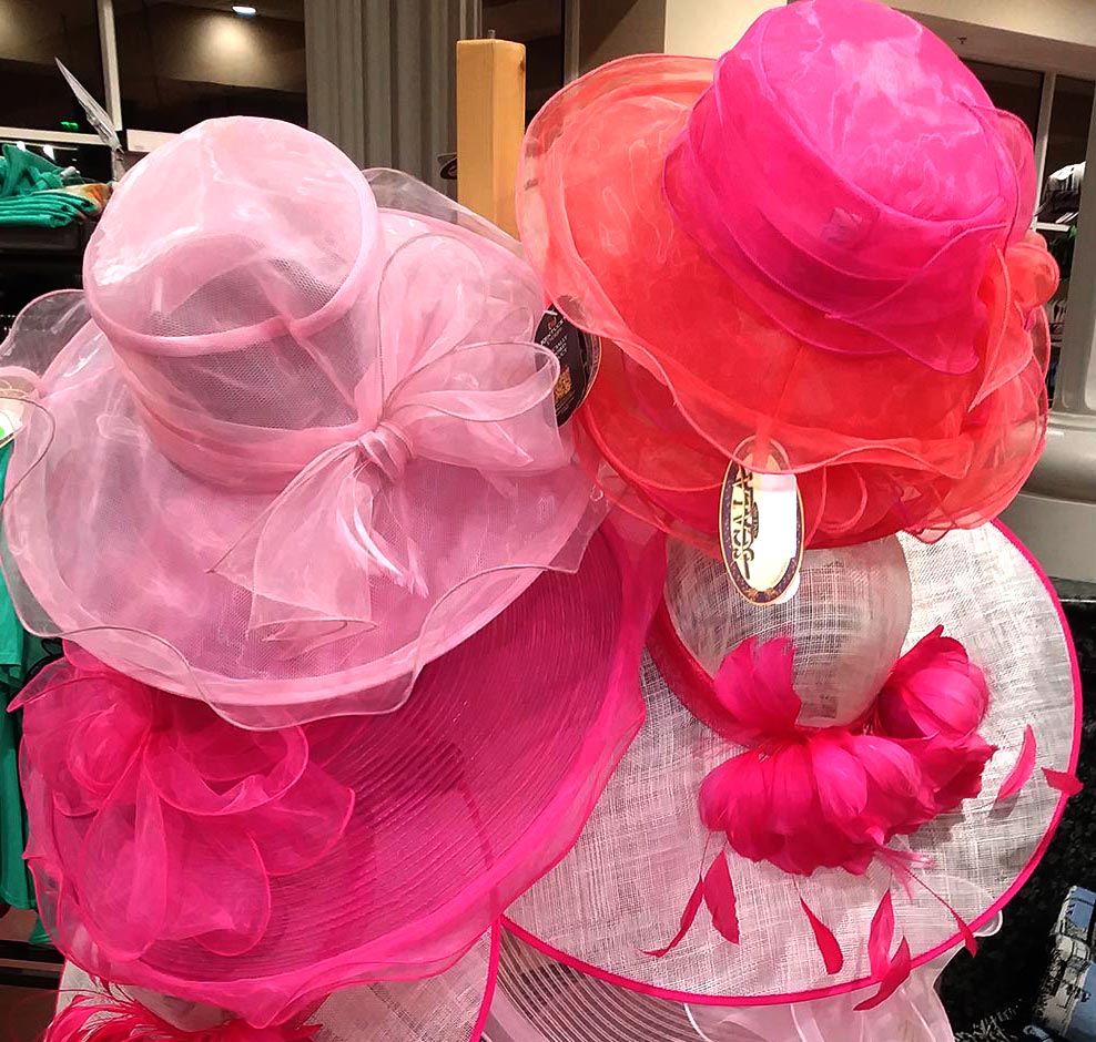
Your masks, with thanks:
M 853 246 L 867 231 L 854 218 L 871 219 L 873 207 L 988 223 L 1003 193 L 1015 205 L 1015 175 L 1002 170 L 982 114 L 993 103 L 941 39 L 874 0 L 808 0 L 781 13 L 755 22 L 724 55 L 716 89 L 752 80 L 768 102 L 762 115 L 857 191 L 860 206 L 831 215 L 832 239 L 844 231 Z M 752 115 L 734 121 L 750 127 Z M 975 155 L 984 162 L 972 163 Z

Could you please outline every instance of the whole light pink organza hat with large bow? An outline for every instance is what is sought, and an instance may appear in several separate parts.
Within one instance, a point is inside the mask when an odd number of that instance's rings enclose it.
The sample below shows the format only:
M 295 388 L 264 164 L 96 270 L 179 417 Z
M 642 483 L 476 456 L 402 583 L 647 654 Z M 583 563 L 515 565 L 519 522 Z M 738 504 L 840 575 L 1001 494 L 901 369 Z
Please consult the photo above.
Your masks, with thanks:
M 603 513 L 541 314 L 517 244 L 412 178 L 274 121 L 180 135 L 4 345 L 24 623 L 245 726 L 397 707 Z

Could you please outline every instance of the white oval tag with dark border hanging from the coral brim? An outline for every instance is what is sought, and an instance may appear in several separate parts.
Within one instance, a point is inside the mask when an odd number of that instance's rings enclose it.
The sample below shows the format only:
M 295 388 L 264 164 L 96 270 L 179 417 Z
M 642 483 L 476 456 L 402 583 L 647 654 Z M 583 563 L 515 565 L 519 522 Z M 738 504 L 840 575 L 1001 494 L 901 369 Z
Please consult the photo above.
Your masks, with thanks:
M 774 446 L 768 467 L 781 466 L 783 453 Z M 803 500 L 795 476 L 732 461 L 719 501 L 719 544 L 731 582 L 751 604 L 790 600 L 803 561 Z

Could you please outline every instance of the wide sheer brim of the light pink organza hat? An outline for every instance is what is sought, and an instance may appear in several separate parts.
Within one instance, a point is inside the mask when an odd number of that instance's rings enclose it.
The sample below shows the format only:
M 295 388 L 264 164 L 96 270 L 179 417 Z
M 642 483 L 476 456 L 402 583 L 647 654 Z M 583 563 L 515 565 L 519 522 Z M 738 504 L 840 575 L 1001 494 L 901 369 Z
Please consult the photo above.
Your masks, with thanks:
M 254 625 L 246 582 L 217 570 L 276 493 L 216 486 L 164 457 L 106 337 L 81 324 L 82 314 L 79 295 L 44 297 L 7 345 L 11 360 L 71 335 L 39 400 L 13 403 L 23 427 L 8 471 L 2 562 L 12 601 L 31 632 L 69 637 L 242 726 L 397 708 L 424 664 L 481 629 L 541 571 L 574 570 L 603 515 L 577 463 L 496 476 L 413 459 L 397 505 L 423 509 L 410 520 L 402 507 L 399 515 L 376 509 L 369 523 L 378 532 L 413 529 L 427 592 L 363 570 L 383 624 L 335 624 L 304 642 L 293 631 L 283 641 Z M 443 502 L 460 505 L 429 509 Z M 296 571 L 281 581 L 307 588 L 311 570 L 323 571 L 324 544 L 305 544 L 309 532 L 298 532 L 302 545 L 290 548 L 283 569 Z

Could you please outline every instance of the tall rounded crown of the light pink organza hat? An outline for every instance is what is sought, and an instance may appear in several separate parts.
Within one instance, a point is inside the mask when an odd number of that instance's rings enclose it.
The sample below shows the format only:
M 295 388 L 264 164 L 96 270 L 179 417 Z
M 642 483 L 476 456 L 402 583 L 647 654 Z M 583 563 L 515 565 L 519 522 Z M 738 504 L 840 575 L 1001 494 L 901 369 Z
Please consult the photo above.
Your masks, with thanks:
M 233 118 L 123 178 L 84 287 L 161 451 L 219 483 L 276 488 L 357 420 L 383 260 L 349 159 L 292 124 Z

